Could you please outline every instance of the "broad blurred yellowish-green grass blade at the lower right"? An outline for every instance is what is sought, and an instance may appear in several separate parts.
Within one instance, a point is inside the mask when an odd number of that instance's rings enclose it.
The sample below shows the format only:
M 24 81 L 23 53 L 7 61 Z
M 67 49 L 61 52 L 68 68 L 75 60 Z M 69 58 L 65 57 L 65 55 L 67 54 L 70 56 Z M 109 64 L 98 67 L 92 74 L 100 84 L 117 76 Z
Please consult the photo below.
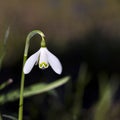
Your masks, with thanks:
M 106 74 L 101 74 L 99 76 L 99 90 L 100 98 L 96 104 L 96 109 L 94 112 L 94 120 L 107 120 L 108 111 L 112 105 L 113 95 L 119 87 L 120 82 L 116 75 L 112 75 L 111 79 L 108 80 Z

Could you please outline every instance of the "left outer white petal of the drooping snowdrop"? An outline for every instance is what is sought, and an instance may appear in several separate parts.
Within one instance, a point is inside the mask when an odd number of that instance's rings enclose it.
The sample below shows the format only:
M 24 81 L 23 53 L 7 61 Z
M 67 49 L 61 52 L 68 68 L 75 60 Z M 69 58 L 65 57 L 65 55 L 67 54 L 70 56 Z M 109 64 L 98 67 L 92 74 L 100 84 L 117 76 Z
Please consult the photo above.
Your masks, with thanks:
M 40 50 L 37 51 L 36 53 L 34 53 L 32 56 L 30 56 L 27 59 L 25 65 L 24 65 L 24 68 L 23 68 L 24 74 L 28 74 L 32 70 L 33 66 L 38 61 L 39 54 L 40 54 Z

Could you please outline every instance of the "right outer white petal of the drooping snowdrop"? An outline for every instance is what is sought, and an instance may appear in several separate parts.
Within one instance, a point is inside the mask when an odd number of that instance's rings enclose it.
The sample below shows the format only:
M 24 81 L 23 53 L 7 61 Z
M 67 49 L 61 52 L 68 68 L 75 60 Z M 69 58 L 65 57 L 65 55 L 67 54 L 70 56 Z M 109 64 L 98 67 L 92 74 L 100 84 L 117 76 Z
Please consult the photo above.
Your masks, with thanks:
M 62 73 L 62 65 L 61 65 L 59 59 L 55 55 L 53 55 L 47 48 L 46 48 L 46 52 L 47 52 L 47 57 L 48 57 L 48 63 L 50 64 L 52 69 L 57 74 L 61 74 Z

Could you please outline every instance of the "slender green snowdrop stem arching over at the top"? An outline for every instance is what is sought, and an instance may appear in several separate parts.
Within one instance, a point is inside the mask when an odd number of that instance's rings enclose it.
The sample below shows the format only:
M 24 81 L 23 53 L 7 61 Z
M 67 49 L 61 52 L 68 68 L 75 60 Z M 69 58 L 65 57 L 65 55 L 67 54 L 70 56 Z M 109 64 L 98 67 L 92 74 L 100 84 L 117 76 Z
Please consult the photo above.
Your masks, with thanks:
M 27 56 L 28 56 L 28 49 L 30 44 L 30 39 L 36 35 L 39 34 L 42 37 L 41 41 L 41 47 L 45 47 L 45 35 L 40 30 L 33 30 L 30 32 L 26 38 L 26 44 L 25 44 L 25 50 L 24 50 L 24 57 L 23 57 L 23 67 L 26 62 Z M 18 113 L 18 120 L 23 120 L 23 93 L 24 93 L 24 81 L 25 81 L 25 74 L 23 72 L 22 68 L 22 74 L 21 74 L 21 86 L 20 86 L 20 100 L 19 100 L 19 113 Z

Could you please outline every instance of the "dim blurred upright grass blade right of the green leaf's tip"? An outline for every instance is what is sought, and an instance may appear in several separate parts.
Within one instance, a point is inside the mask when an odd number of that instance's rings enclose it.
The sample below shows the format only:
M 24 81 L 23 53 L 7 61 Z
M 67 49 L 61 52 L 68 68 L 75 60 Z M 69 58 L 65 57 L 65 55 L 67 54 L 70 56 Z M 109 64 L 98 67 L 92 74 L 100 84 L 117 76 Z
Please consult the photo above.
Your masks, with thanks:
M 82 64 L 76 81 L 76 92 L 73 103 L 73 120 L 78 120 L 81 115 L 83 95 L 86 85 L 88 84 L 90 76 L 87 74 L 87 65 Z

